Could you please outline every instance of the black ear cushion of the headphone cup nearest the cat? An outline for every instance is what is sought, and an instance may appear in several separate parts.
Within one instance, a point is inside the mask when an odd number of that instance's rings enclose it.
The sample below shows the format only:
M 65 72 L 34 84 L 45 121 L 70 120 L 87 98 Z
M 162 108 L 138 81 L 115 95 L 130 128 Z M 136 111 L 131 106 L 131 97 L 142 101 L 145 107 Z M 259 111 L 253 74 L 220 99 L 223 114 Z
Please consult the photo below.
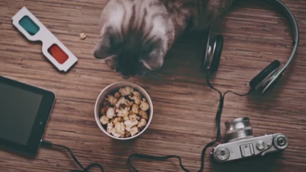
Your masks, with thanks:
M 223 48 L 223 36 L 217 35 L 216 36 L 216 47 L 213 53 L 213 57 L 211 60 L 210 68 L 209 70 L 211 72 L 216 72 L 219 68 L 220 58 L 222 54 L 222 48 Z

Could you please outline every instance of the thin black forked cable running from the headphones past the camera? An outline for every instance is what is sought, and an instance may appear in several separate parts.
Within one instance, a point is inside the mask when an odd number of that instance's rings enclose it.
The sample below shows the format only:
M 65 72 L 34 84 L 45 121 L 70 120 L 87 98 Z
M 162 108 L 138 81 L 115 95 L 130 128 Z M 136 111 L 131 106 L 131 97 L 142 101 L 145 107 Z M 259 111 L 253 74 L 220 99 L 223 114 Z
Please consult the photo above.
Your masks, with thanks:
M 216 89 L 215 87 L 213 87 L 213 85 L 210 83 L 210 81 L 209 81 L 209 74 L 210 74 L 210 73 L 209 73 L 209 71 L 207 70 L 207 73 L 206 73 L 206 81 L 207 81 L 207 84 L 208 84 L 208 86 L 209 86 L 212 90 L 218 92 L 219 97 L 220 97 L 220 98 L 219 98 L 219 105 L 218 105 L 218 109 L 217 109 L 216 117 L 215 117 L 215 125 L 216 125 L 217 131 L 216 131 L 216 138 L 215 138 L 215 140 L 209 142 L 208 144 L 206 144 L 205 147 L 204 147 L 203 150 L 202 150 L 202 154 L 201 154 L 201 167 L 200 167 L 200 169 L 199 169 L 197 172 L 201 172 L 201 171 L 203 171 L 203 169 L 204 169 L 204 158 L 205 158 L 205 152 L 206 152 L 207 148 L 210 147 L 210 146 L 212 146 L 212 145 L 214 145 L 216 142 L 218 142 L 218 141 L 221 140 L 221 129 L 220 129 L 221 127 L 220 127 L 220 121 L 221 121 L 221 114 L 222 114 L 222 110 L 223 110 L 225 95 L 226 95 L 227 93 L 233 93 L 233 94 L 235 94 L 235 95 L 237 95 L 237 96 L 247 96 L 247 95 L 249 95 L 249 94 L 251 93 L 251 91 L 252 91 L 252 90 L 250 90 L 250 91 L 249 91 L 248 93 L 246 93 L 246 94 L 238 94 L 238 93 L 233 92 L 233 91 L 226 91 L 224 94 L 222 94 L 222 92 L 221 92 L 220 90 L 218 90 L 218 89 Z M 128 157 L 127 162 L 128 162 L 128 164 L 130 165 L 130 167 L 131 167 L 134 171 L 136 171 L 136 172 L 138 172 L 138 170 L 132 165 L 132 162 L 131 162 L 131 158 L 133 158 L 133 157 L 136 157 L 136 158 L 143 158 L 143 159 L 160 160 L 160 161 L 166 160 L 166 159 L 169 159 L 169 158 L 176 157 L 176 158 L 179 159 L 180 167 L 181 167 L 184 171 L 190 172 L 188 169 L 186 169 L 186 168 L 184 167 L 184 165 L 183 165 L 183 163 L 182 163 L 182 159 L 181 159 L 181 157 L 178 156 L 178 155 L 153 156 L 153 155 L 147 155 L 147 154 L 141 154 L 141 153 L 134 153 L 134 154 L 131 154 L 131 155 Z

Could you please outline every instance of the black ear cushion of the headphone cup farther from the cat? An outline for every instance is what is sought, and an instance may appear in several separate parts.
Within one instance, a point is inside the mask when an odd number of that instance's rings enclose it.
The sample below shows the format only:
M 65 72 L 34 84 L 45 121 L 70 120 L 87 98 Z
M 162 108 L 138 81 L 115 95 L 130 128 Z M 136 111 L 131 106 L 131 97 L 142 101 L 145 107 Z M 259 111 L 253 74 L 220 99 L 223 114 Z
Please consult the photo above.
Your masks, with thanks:
M 270 63 L 266 68 L 264 68 L 260 73 L 258 73 L 251 81 L 250 87 L 251 89 L 256 89 L 257 85 L 263 81 L 267 76 L 269 76 L 275 69 L 280 66 L 280 62 L 278 60 Z

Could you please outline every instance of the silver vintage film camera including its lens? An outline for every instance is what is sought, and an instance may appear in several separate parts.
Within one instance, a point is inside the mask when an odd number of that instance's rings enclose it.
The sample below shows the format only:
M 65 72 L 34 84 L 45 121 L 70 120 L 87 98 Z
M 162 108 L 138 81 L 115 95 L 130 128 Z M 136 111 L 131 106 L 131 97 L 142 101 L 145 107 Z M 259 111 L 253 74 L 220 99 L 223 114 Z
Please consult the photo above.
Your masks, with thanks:
M 226 121 L 225 127 L 227 143 L 219 144 L 210 153 L 217 162 L 263 156 L 266 153 L 284 150 L 289 144 L 288 138 L 282 133 L 254 137 L 248 117 Z

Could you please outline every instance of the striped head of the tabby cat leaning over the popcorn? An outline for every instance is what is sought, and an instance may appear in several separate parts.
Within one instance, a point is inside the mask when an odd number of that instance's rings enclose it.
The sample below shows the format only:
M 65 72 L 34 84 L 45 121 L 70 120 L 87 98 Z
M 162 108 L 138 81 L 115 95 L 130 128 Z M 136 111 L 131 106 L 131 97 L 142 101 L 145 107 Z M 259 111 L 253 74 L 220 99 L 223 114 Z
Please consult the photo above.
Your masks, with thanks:
M 111 1 L 103 10 L 95 57 L 105 59 L 125 77 L 161 68 L 171 41 L 166 35 L 167 21 L 152 18 L 151 13 L 156 13 L 152 9 L 135 10 L 137 4 L 125 3 L 122 7 Z

